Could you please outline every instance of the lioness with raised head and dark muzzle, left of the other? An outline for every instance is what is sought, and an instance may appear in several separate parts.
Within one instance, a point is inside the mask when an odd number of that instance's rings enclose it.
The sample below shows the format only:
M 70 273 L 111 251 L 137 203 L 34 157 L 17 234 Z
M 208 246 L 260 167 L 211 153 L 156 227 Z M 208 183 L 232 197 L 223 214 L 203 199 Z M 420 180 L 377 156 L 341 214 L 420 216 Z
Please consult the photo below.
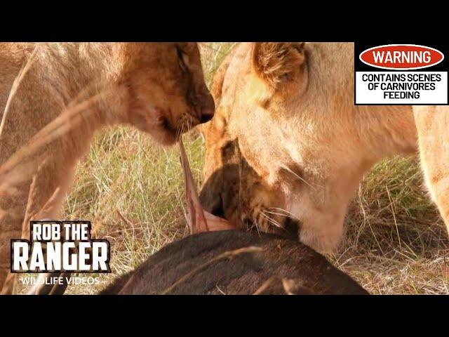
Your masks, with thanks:
M 42 210 L 58 218 L 96 130 L 172 144 L 214 110 L 196 43 L 0 44 L 0 289 L 10 240 Z

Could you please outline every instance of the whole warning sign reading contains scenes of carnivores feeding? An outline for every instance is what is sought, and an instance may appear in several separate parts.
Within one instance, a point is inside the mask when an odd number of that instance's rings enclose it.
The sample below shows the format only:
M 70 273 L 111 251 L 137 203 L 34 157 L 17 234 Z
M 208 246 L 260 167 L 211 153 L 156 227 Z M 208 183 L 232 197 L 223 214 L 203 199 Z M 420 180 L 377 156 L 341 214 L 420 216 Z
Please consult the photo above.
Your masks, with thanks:
M 443 59 L 441 51 L 425 46 L 386 45 L 368 48 L 356 60 L 363 62 L 363 67 L 356 64 L 355 103 L 446 105 L 448 72 L 433 71 L 445 70 L 441 69 L 441 65 L 438 69 L 430 68 L 440 64 Z

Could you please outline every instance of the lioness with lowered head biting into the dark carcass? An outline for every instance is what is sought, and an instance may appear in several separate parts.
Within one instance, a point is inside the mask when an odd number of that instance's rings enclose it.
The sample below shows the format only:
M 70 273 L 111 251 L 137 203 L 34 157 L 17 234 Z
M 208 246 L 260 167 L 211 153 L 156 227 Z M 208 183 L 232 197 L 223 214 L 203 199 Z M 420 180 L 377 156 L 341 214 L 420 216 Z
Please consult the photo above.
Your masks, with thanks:
M 217 113 L 201 128 L 206 210 L 241 226 L 293 230 L 332 251 L 363 174 L 384 157 L 419 149 L 449 225 L 448 108 L 354 106 L 353 44 L 241 44 L 212 92 Z

